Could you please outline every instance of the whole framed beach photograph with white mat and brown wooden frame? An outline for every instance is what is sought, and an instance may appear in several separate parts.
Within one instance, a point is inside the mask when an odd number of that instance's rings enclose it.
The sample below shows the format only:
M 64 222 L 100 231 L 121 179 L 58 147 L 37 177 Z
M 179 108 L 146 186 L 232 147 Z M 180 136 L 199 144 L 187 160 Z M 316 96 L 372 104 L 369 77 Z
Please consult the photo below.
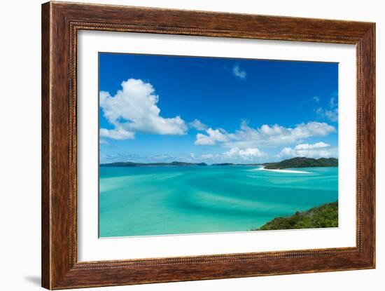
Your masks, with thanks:
M 42 285 L 372 269 L 375 25 L 42 6 Z

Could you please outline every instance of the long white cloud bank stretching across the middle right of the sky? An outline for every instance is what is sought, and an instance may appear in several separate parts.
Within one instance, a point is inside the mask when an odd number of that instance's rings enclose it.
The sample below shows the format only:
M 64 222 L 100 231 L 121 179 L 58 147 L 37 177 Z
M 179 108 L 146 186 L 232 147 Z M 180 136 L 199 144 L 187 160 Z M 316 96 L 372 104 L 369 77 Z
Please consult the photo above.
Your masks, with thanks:
M 220 143 L 223 147 L 241 149 L 268 146 L 275 147 L 283 144 L 293 144 L 307 137 L 325 136 L 335 132 L 335 127 L 328 123 L 311 121 L 300 123 L 294 128 L 285 128 L 274 124 L 263 125 L 260 128 L 251 128 L 246 122 L 241 123 L 239 130 L 235 133 L 227 133 L 223 129 L 213 130 L 209 128 L 207 135 L 197 134 L 197 145 L 214 145 Z

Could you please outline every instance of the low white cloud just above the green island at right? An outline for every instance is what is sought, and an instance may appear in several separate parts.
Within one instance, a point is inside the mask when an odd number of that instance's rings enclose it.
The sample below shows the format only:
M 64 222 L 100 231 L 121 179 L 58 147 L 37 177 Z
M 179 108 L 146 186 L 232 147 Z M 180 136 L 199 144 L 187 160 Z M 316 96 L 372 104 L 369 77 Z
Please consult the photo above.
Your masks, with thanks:
M 279 158 L 290 158 L 294 156 L 305 156 L 307 158 L 330 158 L 338 156 L 337 147 L 330 147 L 330 144 L 325 142 L 316 142 L 315 144 L 297 144 L 294 149 L 285 147 L 276 156 Z

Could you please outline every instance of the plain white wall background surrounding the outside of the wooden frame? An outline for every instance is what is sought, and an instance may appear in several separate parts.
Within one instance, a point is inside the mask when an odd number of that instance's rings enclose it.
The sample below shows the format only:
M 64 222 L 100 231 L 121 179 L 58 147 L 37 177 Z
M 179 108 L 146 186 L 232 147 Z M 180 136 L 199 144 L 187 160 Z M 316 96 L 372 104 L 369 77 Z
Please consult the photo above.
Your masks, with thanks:
M 258 13 L 377 22 L 377 269 L 289 276 L 163 283 L 99 290 L 384 290 L 385 190 L 384 79 L 385 8 L 383 1 L 307 0 L 127 0 L 97 1 L 203 11 Z M 41 6 L 40 0 L 4 1 L 0 44 L 0 289 L 40 289 L 41 180 Z M 383 49 L 384 50 L 384 49 Z M 382 52 L 382 55 L 384 55 Z M 93 289 L 97 290 L 97 289 Z

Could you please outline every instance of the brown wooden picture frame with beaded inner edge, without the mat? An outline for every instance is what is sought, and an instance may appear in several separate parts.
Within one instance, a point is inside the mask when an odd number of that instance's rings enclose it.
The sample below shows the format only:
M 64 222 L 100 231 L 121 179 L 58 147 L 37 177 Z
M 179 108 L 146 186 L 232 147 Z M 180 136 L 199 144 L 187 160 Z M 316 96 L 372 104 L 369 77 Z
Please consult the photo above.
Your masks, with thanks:
M 76 41 L 82 30 L 356 45 L 356 247 L 78 262 Z M 42 285 L 48 289 L 372 269 L 375 25 L 48 2 L 42 6 Z

